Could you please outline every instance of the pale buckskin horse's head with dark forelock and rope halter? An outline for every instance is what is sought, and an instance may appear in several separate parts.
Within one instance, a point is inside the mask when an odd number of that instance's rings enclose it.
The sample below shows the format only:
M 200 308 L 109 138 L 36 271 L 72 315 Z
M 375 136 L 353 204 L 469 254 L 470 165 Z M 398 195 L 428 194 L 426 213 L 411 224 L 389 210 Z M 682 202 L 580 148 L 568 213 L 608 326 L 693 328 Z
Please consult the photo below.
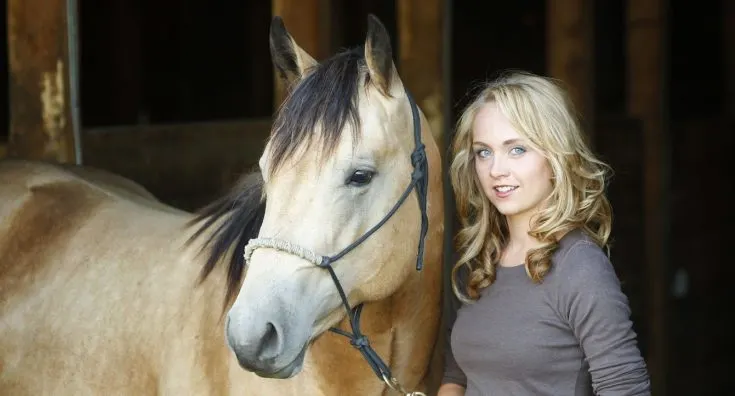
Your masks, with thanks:
M 291 91 L 260 159 L 266 205 L 258 240 L 275 242 L 250 251 L 226 334 L 241 366 L 287 378 L 301 370 L 311 341 L 345 315 L 330 273 L 307 256 L 342 251 L 390 212 L 412 181 L 416 145 L 390 38 L 375 17 L 364 48 L 321 64 L 278 18 L 270 48 Z M 351 306 L 390 296 L 415 271 L 420 224 L 412 193 L 332 264 Z

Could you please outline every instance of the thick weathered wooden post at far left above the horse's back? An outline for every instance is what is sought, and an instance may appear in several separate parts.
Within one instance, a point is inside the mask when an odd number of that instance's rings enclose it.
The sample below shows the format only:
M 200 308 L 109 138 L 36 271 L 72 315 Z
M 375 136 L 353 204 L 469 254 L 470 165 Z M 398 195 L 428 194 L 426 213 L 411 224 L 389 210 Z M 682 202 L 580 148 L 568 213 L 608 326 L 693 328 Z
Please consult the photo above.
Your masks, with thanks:
M 65 0 L 8 0 L 13 157 L 75 162 Z

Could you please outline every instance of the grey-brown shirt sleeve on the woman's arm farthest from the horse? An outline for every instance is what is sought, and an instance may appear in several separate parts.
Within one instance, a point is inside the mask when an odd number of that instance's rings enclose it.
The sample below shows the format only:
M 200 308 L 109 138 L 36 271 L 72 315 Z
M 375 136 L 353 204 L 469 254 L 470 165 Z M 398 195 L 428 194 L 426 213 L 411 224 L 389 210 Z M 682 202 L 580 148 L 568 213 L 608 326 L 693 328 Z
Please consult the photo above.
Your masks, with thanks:
M 584 351 L 595 394 L 650 395 L 628 299 L 610 260 L 597 245 L 584 241 L 571 248 L 563 267 L 560 311 Z

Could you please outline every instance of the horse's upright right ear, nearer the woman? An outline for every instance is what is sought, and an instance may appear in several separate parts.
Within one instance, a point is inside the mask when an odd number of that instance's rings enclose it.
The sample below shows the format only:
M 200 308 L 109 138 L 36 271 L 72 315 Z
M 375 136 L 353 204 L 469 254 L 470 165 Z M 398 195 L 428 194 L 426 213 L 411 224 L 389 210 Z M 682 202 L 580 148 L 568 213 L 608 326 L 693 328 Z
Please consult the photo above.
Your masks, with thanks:
M 401 88 L 401 81 L 393 64 L 393 50 L 385 26 L 373 14 L 368 15 L 365 38 L 365 62 L 370 80 L 385 95 L 393 96 Z

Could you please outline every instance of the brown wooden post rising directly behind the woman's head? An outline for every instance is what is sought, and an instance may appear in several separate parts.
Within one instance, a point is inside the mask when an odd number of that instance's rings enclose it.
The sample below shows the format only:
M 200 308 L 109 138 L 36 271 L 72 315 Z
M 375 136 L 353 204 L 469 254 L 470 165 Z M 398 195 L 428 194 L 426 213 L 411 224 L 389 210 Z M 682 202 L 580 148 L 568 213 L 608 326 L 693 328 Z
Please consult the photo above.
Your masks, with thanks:
M 590 0 L 547 0 L 546 65 L 562 80 L 594 146 L 594 8 Z

